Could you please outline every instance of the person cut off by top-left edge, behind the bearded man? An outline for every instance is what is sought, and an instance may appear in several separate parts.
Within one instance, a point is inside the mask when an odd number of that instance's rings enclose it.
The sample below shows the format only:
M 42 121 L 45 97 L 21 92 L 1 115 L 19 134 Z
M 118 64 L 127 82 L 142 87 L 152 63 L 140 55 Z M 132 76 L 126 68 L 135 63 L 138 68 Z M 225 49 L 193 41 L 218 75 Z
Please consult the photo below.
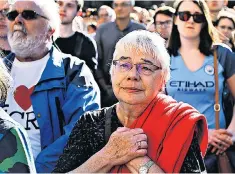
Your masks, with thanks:
M 0 57 L 7 56 L 11 51 L 7 40 L 7 24 L 6 24 L 6 13 L 9 9 L 7 0 L 0 1 Z

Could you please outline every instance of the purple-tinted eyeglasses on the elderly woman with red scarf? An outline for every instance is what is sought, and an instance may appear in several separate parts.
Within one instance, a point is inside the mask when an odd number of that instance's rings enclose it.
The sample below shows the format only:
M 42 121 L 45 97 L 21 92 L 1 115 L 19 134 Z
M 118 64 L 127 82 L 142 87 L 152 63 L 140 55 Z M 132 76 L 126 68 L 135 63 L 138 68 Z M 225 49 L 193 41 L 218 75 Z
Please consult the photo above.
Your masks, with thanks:
M 113 60 L 113 65 L 117 68 L 120 72 L 128 72 L 130 71 L 133 66 L 136 66 L 136 70 L 138 74 L 143 75 L 151 75 L 153 72 L 162 69 L 161 67 L 158 67 L 156 65 L 151 65 L 147 63 L 137 63 L 132 64 L 131 62 L 126 62 L 123 60 Z

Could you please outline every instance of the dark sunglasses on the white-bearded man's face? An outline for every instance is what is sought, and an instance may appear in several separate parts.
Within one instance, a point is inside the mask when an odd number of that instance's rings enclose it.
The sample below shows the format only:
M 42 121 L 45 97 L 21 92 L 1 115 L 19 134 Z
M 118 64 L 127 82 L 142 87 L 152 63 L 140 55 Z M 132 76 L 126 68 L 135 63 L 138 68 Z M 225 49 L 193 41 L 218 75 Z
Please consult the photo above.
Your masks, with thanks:
M 24 10 L 22 11 L 21 13 L 19 13 L 18 11 L 14 10 L 14 11 L 11 11 L 9 13 L 6 14 L 7 16 L 7 19 L 9 21 L 14 21 L 15 18 L 21 14 L 21 16 L 25 19 L 25 20 L 35 20 L 39 17 L 42 17 L 44 19 L 47 19 L 45 16 L 42 16 L 40 14 L 38 14 L 37 12 L 33 11 L 33 10 Z

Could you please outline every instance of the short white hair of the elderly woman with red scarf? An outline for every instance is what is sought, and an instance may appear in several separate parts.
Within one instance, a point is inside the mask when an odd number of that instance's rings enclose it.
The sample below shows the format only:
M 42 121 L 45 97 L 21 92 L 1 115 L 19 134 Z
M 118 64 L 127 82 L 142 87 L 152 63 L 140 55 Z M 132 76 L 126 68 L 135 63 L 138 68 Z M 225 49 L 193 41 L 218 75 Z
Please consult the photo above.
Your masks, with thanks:
M 165 83 L 170 79 L 170 55 L 165 46 L 165 40 L 157 33 L 151 33 L 146 30 L 136 30 L 130 32 L 120 39 L 115 47 L 113 59 L 119 59 L 119 52 L 135 52 L 151 56 L 159 61 L 164 73 Z M 111 65 L 110 74 L 112 76 L 113 65 Z

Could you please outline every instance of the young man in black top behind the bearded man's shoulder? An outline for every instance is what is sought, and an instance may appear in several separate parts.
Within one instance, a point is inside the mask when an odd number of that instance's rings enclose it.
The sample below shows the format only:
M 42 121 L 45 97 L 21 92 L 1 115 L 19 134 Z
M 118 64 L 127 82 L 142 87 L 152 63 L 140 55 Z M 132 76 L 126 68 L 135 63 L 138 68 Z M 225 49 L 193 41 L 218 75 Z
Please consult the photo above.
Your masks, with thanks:
M 97 69 L 97 46 L 95 40 L 82 32 L 73 31 L 73 20 L 82 8 L 83 0 L 58 0 L 61 19 L 60 36 L 55 44 L 66 54 L 84 60 L 94 73 Z M 94 75 L 94 74 L 93 74 Z

